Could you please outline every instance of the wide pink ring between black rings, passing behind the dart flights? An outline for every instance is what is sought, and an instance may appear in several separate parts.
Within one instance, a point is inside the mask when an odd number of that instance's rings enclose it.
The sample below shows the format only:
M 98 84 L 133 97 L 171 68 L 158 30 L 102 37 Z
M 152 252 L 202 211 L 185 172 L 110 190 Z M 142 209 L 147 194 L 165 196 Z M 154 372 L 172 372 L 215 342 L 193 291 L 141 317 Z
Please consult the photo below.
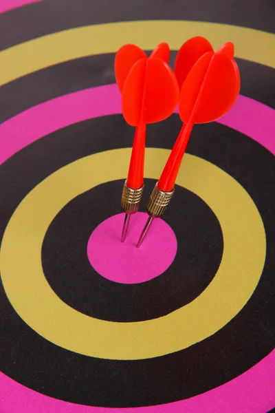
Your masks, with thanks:
M 0 165 L 23 147 L 58 129 L 98 116 L 120 114 L 116 85 L 95 87 L 49 100 L 0 125 Z M 275 153 L 275 111 L 245 96 L 219 123 L 250 136 Z M 255 366 L 218 388 L 190 399 L 149 407 L 125 408 L 127 413 L 259 412 L 275 405 L 275 350 Z M 17 413 L 119 413 L 122 409 L 76 405 L 37 393 L 0 373 L 1 406 Z

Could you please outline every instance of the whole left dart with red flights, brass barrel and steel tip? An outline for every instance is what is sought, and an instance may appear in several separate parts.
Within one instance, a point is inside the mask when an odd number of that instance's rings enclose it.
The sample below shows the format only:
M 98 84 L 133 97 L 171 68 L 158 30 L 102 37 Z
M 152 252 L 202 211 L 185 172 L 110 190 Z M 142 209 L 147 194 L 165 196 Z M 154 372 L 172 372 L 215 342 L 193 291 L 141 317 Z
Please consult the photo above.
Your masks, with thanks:
M 169 57 L 167 47 L 161 43 L 147 58 L 139 47 L 126 45 L 115 58 L 115 77 L 122 90 L 122 114 L 129 125 L 136 127 L 129 173 L 122 192 L 122 209 L 126 213 L 122 242 L 129 218 L 137 212 L 142 197 L 146 124 L 168 118 L 179 99 L 177 79 L 164 60 Z M 124 60 L 126 67 L 122 67 Z

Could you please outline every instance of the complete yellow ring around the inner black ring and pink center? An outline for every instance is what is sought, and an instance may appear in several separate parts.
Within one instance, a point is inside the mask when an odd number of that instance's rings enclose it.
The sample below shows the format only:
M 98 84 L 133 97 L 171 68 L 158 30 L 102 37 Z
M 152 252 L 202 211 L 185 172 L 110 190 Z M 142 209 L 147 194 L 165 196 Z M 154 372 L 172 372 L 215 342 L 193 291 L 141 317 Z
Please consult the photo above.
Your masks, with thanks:
M 167 149 L 146 150 L 147 178 L 159 177 L 168 154 Z M 20 317 L 52 343 L 101 359 L 162 356 L 213 335 L 250 299 L 265 263 L 265 230 L 250 195 L 218 167 L 186 154 L 177 182 L 208 204 L 223 231 L 221 265 L 206 290 L 165 317 L 133 323 L 94 319 L 61 301 L 43 274 L 45 232 L 72 198 L 124 178 L 130 155 L 131 149 L 96 153 L 43 180 L 14 211 L 1 246 L 3 286 Z

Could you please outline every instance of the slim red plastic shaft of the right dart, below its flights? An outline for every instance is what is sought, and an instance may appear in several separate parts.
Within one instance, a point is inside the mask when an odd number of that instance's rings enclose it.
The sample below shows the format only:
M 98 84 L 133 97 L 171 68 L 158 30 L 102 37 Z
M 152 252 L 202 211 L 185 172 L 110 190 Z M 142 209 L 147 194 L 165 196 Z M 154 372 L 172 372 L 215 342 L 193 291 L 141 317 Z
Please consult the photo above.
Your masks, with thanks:
M 177 136 L 175 145 L 173 146 L 170 156 L 166 162 L 162 175 L 157 182 L 157 187 L 164 192 L 173 191 L 175 187 L 175 182 L 177 179 L 177 174 L 179 173 L 179 168 L 181 166 L 181 160 L 184 157 L 186 147 L 190 138 L 192 131 L 192 123 L 184 123 L 181 127 L 181 131 Z

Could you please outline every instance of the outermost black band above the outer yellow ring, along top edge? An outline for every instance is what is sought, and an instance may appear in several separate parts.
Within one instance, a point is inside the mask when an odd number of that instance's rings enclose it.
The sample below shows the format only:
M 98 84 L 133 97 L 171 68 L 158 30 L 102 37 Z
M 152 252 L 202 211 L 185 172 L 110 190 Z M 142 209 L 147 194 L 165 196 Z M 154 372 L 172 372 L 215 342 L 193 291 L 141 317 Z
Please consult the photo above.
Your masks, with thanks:
M 115 21 L 208 21 L 273 33 L 272 11 L 261 0 L 162 1 L 160 6 L 155 0 L 47 0 L 0 14 L 0 50 L 45 34 Z

